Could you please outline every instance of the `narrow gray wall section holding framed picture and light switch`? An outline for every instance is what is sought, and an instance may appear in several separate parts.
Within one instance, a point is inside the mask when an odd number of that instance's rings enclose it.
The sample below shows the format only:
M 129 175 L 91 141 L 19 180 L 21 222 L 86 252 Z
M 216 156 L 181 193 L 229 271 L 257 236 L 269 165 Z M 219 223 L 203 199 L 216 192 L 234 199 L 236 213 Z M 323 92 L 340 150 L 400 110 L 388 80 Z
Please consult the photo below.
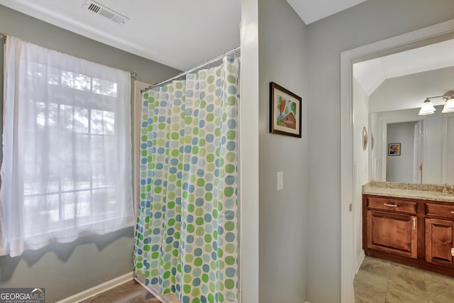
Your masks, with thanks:
M 287 1 L 258 1 L 259 302 L 306 299 L 307 37 Z M 303 99 L 302 138 L 269 133 L 270 82 Z M 277 191 L 277 172 L 284 189 Z M 245 302 L 247 303 L 247 302 Z

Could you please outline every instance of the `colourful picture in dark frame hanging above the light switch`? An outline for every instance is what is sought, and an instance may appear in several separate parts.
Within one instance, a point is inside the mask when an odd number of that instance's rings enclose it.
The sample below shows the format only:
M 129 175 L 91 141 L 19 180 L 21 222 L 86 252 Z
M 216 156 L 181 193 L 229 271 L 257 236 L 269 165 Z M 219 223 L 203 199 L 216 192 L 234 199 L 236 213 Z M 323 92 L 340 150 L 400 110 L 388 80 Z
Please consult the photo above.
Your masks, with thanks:
M 301 97 L 270 82 L 270 133 L 301 138 Z

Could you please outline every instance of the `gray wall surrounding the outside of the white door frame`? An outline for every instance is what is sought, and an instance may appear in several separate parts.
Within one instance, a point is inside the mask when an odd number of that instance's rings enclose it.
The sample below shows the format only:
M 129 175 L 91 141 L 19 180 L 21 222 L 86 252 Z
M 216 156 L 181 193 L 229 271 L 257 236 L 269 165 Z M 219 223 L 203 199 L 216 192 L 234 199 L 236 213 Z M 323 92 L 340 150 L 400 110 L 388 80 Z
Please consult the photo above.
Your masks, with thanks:
M 341 52 L 453 18 L 452 0 L 368 0 L 307 26 L 309 302 L 341 301 Z

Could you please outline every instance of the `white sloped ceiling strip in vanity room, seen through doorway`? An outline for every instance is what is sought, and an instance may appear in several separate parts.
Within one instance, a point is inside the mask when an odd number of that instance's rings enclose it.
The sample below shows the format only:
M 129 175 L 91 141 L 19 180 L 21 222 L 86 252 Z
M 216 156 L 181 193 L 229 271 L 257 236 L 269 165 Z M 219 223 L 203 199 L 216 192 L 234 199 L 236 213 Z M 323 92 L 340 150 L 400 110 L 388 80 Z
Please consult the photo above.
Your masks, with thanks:
M 385 79 L 454 66 L 453 49 L 454 40 L 446 40 L 359 62 L 353 65 L 353 77 L 359 82 L 367 96 L 370 96 Z

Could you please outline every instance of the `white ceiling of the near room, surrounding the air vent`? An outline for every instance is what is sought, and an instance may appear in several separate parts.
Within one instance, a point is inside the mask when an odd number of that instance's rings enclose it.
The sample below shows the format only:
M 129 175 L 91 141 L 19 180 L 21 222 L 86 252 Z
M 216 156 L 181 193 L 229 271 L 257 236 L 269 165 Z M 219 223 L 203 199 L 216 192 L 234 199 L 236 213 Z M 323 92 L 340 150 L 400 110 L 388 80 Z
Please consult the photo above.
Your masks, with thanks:
M 309 24 L 365 0 L 287 1 Z M 125 24 L 82 9 L 84 2 L 0 0 L 16 11 L 179 70 L 240 45 L 241 0 L 96 0 L 128 17 Z

